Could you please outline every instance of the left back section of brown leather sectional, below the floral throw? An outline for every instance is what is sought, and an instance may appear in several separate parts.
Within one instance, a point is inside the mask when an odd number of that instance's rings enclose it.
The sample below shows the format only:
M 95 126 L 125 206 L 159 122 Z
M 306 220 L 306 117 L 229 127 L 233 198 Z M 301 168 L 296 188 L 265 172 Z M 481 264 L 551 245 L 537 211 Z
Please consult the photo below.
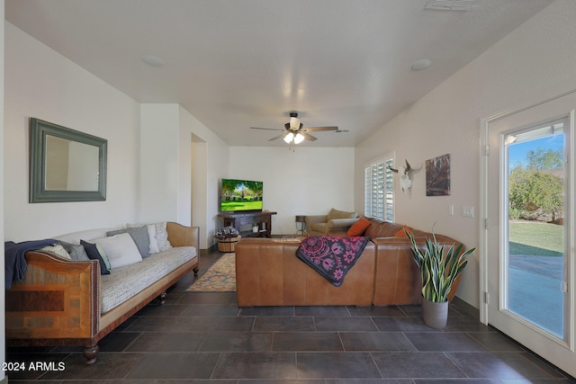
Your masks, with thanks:
M 335 287 L 296 257 L 297 238 L 243 238 L 236 245 L 238 307 L 372 304 L 374 244 Z

